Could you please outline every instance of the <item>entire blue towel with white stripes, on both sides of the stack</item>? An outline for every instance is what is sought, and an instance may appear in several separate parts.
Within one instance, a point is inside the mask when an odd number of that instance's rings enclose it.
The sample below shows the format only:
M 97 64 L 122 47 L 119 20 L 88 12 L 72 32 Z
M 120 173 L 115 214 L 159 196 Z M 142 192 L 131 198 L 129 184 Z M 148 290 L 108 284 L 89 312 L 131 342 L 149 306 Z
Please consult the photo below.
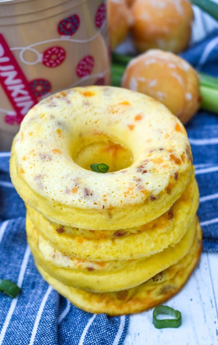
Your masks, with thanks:
M 218 30 L 183 54 L 218 76 Z M 200 188 L 198 216 L 204 250 L 218 252 L 218 116 L 200 111 L 187 125 Z M 0 277 L 22 287 L 0 294 L 0 345 L 120 345 L 128 316 L 89 314 L 60 296 L 37 272 L 25 236 L 24 203 L 9 177 L 9 153 L 0 153 Z

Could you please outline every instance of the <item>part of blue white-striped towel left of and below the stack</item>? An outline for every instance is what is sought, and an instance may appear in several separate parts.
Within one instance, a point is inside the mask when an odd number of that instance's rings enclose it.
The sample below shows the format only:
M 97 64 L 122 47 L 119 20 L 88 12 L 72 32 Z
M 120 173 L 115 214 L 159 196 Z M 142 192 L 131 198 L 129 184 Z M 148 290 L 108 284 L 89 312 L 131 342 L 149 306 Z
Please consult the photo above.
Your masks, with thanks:
M 74 307 L 37 272 L 26 242 L 25 206 L 11 184 L 9 152 L 0 152 L 0 278 L 22 287 L 0 293 L 2 345 L 121 345 L 128 316 L 90 314 Z

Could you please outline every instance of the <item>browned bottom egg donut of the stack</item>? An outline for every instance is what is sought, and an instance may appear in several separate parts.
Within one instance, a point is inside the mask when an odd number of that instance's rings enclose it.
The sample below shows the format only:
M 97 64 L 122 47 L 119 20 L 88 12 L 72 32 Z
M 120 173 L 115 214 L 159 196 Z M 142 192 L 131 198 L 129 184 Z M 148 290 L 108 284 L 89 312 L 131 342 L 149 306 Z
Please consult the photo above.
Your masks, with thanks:
M 192 247 L 177 263 L 137 287 L 101 294 L 65 285 L 49 275 L 39 263 L 36 262 L 36 266 L 44 279 L 77 307 L 90 313 L 123 315 L 152 308 L 179 292 L 198 263 L 200 253 L 201 229 L 198 223 Z

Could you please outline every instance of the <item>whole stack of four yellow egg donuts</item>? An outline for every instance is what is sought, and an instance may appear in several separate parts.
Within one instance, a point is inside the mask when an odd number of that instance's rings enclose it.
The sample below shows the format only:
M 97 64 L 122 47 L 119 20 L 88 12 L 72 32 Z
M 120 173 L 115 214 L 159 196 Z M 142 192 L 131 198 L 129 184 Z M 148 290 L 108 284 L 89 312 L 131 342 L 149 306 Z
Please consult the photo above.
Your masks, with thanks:
M 105 163 L 107 173 L 91 171 Z M 69 89 L 35 105 L 10 160 L 44 279 L 77 307 L 122 315 L 177 293 L 198 262 L 192 154 L 181 122 L 121 88 Z

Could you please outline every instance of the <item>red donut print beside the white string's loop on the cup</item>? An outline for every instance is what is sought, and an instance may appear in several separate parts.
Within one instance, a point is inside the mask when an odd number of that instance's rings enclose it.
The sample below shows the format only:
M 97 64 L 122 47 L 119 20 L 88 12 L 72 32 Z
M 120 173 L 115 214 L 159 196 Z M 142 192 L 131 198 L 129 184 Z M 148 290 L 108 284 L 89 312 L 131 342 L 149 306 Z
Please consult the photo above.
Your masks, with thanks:
M 61 47 L 51 47 L 44 51 L 42 63 L 46 67 L 57 67 L 65 60 L 66 51 Z

